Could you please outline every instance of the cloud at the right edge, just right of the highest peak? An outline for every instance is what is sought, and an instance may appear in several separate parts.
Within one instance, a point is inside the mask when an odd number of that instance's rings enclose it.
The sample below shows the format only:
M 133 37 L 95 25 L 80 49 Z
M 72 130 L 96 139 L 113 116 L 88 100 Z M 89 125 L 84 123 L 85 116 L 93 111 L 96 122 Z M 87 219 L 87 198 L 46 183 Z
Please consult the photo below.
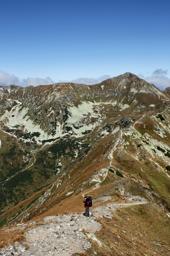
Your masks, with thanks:
M 164 90 L 167 87 L 170 87 L 170 79 L 165 76 L 168 71 L 161 68 L 153 71 L 151 76 L 147 76 L 145 80 L 150 84 L 155 84 L 160 90 Z

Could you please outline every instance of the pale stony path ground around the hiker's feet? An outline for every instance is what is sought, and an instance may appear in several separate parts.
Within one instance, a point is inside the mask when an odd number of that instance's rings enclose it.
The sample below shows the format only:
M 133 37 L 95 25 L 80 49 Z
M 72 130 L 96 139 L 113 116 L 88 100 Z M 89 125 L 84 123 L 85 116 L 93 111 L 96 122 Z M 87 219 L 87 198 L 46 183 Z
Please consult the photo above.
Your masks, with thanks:
M 110 199 L 110 196 L 98 198 L 98 200 L 106 202 Z M 113 211 L 117 208 L 148 203 L 146 199 L 139 196 L 128 196 L 128 201 L 131 202 L 96 207 L 92 210 L 93 215 L 89 218 L 81 214 L 45 217 L 42 220 L 43 225 L 27 231 L 27 247 L 15 242 L 14 246 L 4 247 L 0 250 L 0 256 L 71 256 L 73 253 L 81 253 L 91 247 L 88 238 L 96 240 L 99 246 L 102 246 L 95 237 L 95 232 L 102 227 L 99 222 L 95 221 L 96 217 L 111 218 Z M 36 222 L 30 224 L 36 224 Z M 23 229 L 26 225 L 28 224 L 18 224 L 17 228 Z

